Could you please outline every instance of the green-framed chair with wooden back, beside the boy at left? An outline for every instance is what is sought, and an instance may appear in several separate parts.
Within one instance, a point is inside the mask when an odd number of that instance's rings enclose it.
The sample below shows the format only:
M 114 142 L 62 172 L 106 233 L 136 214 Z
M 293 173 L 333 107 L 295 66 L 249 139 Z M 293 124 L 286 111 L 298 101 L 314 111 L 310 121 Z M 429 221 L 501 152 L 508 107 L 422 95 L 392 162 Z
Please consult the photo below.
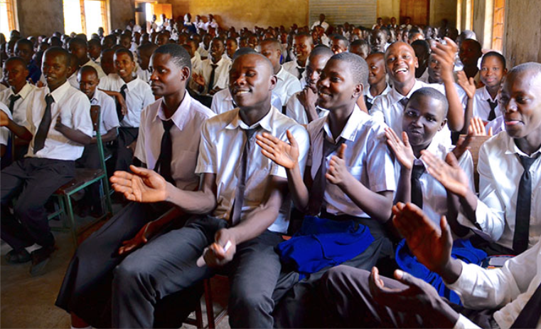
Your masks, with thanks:
M 69 226 L 66 225 L 64 221 L 63 227 L 60 228 L 60 230 L 65 231 L 67 229 L 70 229 L 75 246 L 77 246 L 77 228 L 75 227 L 75 215 L 73 214 L 73 204 L 71 201 L 71 197 L 73 196 L 73 194 L 81 191 L 82 189 L 90 186 L 91 184 L 95 184 L 95 183 L 101 184 L 100 199 L 103 200 L 105 197 L 105 204 L 106 204 L 107 210 L 105 211 L 104 216 L 100 217 L 99 219 L 96 219 L 95 221 L 92 221 L 90 224 L 85 226 L 85 229 L 92 226 L 92 224 L 95 224 L 97 221 L 100 221 L 104 217 L 107 217 L 107 218 L 112 217 L 112 204 L 111 204 L 111 198 L 109 194 L 109 181 L 107 179 L 107 167 L 105 166 L 105 155 L 104 155 L 103 144 L 102 144 L 102 135 L 100 134 L 100 124 L 101 124 L 100 105 L 90 106 L 90 117 L 92 117 L 93 130 L 96 132 L 97 148 L 98 148 L 98 154 L 100 155 L 101 169 L 87 169 L 87 168 L 75 169 L 75 178 L 72 179 L 71 182 L 68 182 L 68 184 L 64 184 L 62 187 L 57 189 L 56 192 L 53 194 L 54 197 L 58 197 L 60 209 L 58 209 L 57 211 L 55 211 L 54 214 L 51 214 L 49 216 L 49 219 L 51 218 L 51 216 L 58 216 L 59 214 L 64 214 L 65 216 L 68 216 L 68 219 L 70 221 Z M 83 229 L 82 231 L 85 231 L 85 229 Z

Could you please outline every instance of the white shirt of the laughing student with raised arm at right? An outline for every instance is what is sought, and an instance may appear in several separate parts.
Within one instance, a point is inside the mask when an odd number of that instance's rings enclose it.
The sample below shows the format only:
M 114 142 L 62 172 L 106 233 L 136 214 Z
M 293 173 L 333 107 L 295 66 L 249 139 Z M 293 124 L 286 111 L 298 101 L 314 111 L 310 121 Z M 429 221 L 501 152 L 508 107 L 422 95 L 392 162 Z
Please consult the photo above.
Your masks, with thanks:
M 409 90 L 409 93 L 405 96 L 400 95 L 395 88 L 392 88 L 387 95 L 377 98 L 372 108 L 370 108 L 370 115 L 377 121 L 385 122 L 400 136 L 402 134 L 402 117 L 404 117 L 404 105 L 400 103 L 400 100 L 405 97 L 412 97 L 412 94 L 421 88 L 434 88 L 445 95 L 444 85 L 423 83 L 416 79 L 412 90 Z M 436 132 L 434 139 L 448 147 L 451 146 L 451 130 L 445 125 L 442 130 Z

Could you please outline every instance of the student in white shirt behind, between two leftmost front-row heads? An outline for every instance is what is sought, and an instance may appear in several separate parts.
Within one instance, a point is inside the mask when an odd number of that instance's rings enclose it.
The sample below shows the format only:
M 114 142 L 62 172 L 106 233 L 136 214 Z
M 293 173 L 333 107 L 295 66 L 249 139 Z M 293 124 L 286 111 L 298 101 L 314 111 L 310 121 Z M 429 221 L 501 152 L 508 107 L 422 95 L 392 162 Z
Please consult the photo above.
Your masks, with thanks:
M 201 62 L 200 71 L 193 73 L 192 88 L 200 95 L 214 95 L 227 87 L 231 61 L 222 57 L 224 51 L 223 41 L 214 38 L 210 43 L 210 58 Z

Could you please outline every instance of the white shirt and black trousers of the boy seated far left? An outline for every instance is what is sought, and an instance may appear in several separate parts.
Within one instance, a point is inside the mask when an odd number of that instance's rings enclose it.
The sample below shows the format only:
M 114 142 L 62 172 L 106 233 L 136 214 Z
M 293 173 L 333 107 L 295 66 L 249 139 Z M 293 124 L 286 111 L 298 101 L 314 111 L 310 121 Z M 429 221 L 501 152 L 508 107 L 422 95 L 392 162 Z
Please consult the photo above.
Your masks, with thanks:
M 67 81 L 52 93 L 48 87 L 38 88 L 33 93 L 27 115 L 25 127 L 33 135 L 28 153 L 23 160 L 1 172 L 1 239 L 16 250 L 34 243 L 41 246 L 55 243 L 43 206 L 58 187 L 73 179 L 75 160 L 84 149 L 55 130 L 57 118 L 60 117 L 64 125 L 92 136 L 90 103 L 85 94 Z M 43 127 L 39 129 L 42 121 Z M 14 214 L 11 214 L 11 199 L 21 187 Z

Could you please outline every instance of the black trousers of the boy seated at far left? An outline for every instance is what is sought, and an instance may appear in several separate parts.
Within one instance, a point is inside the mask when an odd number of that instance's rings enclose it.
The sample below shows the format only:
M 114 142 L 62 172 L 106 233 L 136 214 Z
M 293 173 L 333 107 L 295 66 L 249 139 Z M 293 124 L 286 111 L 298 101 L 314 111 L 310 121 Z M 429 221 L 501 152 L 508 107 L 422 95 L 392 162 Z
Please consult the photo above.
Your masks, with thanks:
M 55 239 L 45 202 L 75 175 L 75 162 L 26 157 L 1 171 L 1 239 L 13 249 L 39 244 L 53 246 Z M 9 206 L 17 197 L 14 214 Z

